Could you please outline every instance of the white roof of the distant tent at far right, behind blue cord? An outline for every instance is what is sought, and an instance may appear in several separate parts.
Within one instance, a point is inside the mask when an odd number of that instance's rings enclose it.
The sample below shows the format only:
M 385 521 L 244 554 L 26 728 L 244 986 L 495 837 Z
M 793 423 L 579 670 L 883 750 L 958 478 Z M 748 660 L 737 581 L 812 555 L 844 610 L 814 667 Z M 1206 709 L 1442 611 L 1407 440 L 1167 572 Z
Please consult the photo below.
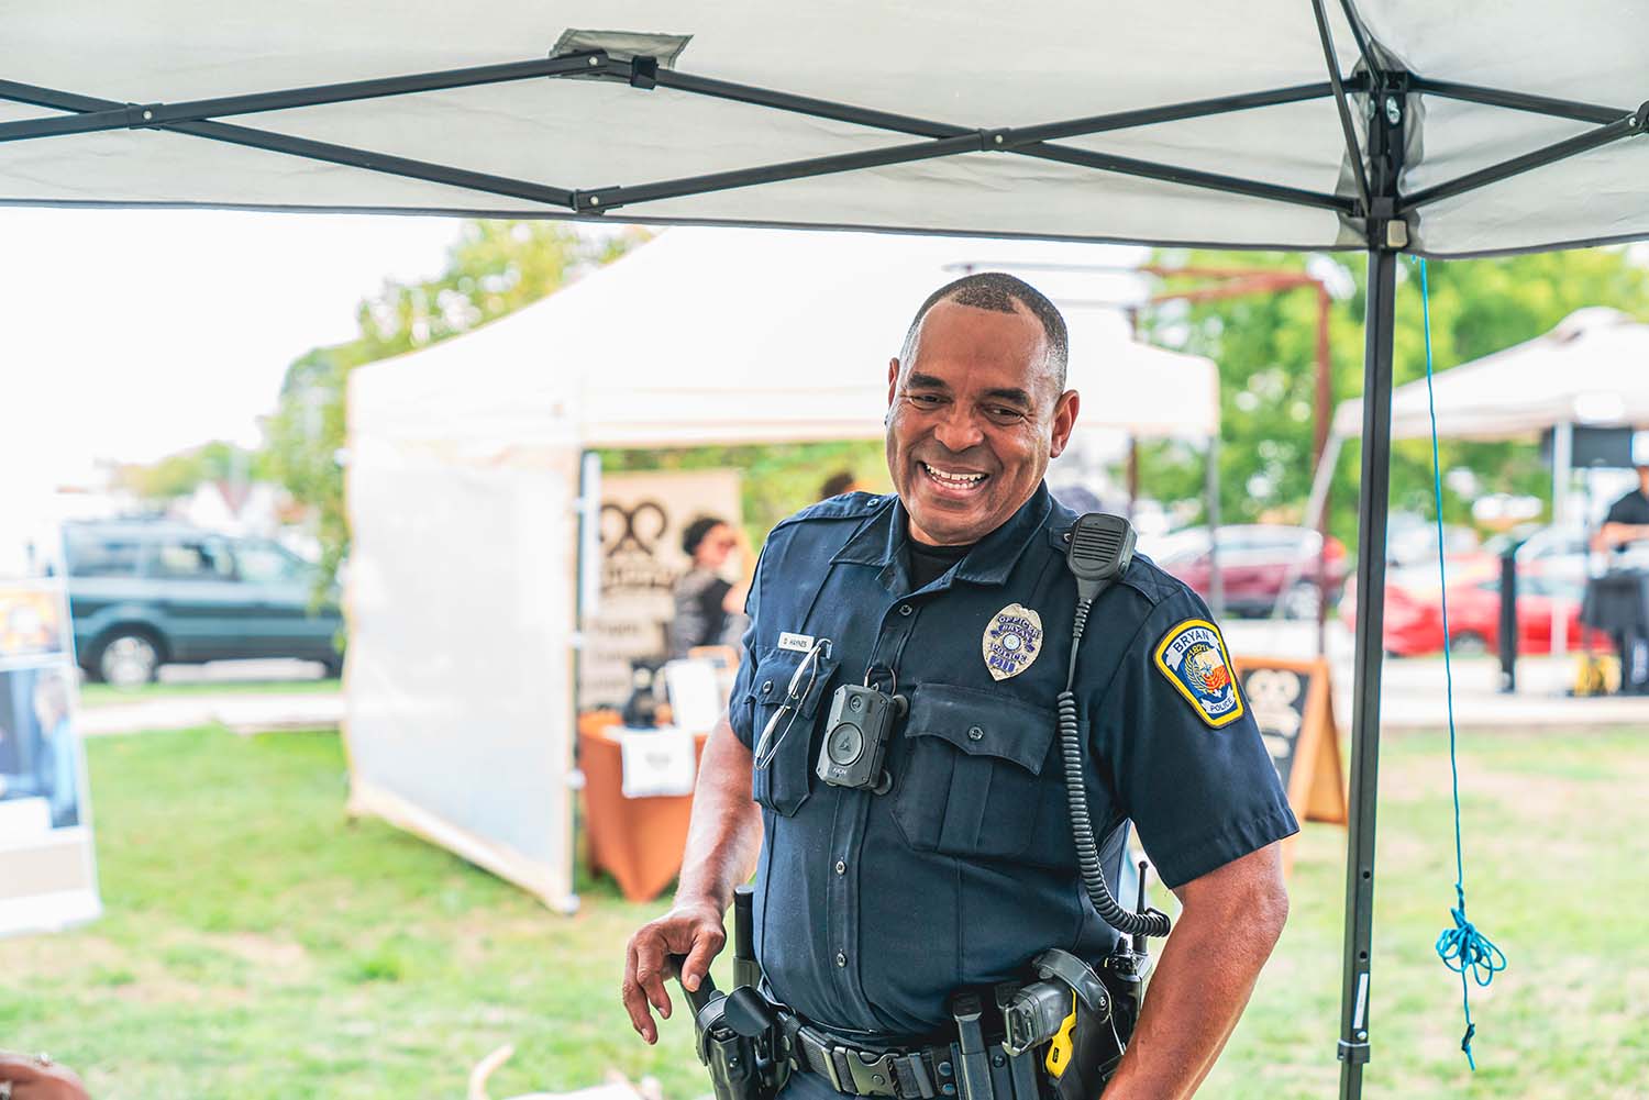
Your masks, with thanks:
M 1649 325 L 1603 307 L 1570 313 L 1525 343 L 1435 379 L 1438 434 L 1520 439 L 1557 424 L 1649 427 Z M 1334 414 L 1334 434 L 1362 430 L 1362 401 Z M 1428 439 L 1425 379 L 1392 391 L 1392 439 Z

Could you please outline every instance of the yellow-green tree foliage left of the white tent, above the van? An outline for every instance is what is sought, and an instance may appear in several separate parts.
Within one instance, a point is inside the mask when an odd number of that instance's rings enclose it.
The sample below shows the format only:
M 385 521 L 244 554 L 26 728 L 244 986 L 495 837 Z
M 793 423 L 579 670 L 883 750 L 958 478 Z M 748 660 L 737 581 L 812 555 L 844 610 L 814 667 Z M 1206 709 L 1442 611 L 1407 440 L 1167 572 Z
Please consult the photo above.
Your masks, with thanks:
M 643 239 L 641 233 L 590 237 L 552 221 L 467 221 L 435 279 L 386 282 L 361 302 L 355 340 L 313 348 L 287 368 L 265 425 L 269 470 L 317 510 L 327 581 L 350 549 L 340 463 L 350 371 L 513 313 Z

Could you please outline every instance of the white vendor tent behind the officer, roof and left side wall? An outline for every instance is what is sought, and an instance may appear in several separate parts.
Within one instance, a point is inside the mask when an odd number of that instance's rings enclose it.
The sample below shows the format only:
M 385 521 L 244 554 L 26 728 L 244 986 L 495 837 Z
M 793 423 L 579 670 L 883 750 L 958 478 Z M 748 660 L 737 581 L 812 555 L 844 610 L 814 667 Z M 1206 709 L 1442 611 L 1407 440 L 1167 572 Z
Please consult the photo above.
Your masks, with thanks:
M 1032 266 L 1055 295 L 1092 300 L 1118 282 L 1118 252 L 669 229 L 475 333 L 358 369 L 355 808 L 571 905 L 580 452 L 879 439 L 887 360 L 928 294 Z M 1067 313 L 1078 429 L 1219 430 L 1214 363 L 1133 343 L 1115 310 Z

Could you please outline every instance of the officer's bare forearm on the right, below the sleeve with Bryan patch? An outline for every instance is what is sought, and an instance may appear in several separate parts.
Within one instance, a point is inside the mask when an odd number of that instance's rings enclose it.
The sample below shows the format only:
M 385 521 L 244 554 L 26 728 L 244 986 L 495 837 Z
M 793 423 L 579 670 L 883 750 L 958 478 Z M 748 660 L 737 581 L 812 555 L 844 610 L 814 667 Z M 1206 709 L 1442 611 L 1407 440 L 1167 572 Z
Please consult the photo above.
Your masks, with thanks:
M 1179 1100 L 1214 1069 L 1288 915 L 1275 848 L 1182 887 L 1184 910 L 1105 1100 Z

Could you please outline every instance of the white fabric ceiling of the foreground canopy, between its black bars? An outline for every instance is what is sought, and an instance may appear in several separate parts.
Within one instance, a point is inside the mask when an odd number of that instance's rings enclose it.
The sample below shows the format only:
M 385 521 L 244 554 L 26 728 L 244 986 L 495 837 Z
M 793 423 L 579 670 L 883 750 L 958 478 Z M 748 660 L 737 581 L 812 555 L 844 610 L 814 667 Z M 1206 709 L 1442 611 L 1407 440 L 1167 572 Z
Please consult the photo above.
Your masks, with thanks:
M 1327 3 L 1339 69 L 1359 49 Z M 1629 7 L 1576 0 L 1347 5 L 1416 76 L 1621 112 L 1646 96 L 1649 41 Z M 691 36 L 676 71 L 968 130 L 1012 129 L 1327 79 L 1311 5 L 824 7 L 617 0 L 462 5 L 358 0 L 53 0 L 8 8 L 0 129 L 59 115 L 18 86 L 112 104 L 178 104 L 544 58 L 569 28 Z M 1492 48 L 1486 46 L 1492 43 Z M 1360 135 L 1365 97 L 1352 96 Z M 56 101 L 66 102 L 66 101 Z M 87 109 L 94 104 L 82 104 Z M 1595 129 L 1591 122 L 1408 97 L 1405 193 Z M 224 122 L 554 188 L 633 186 L 925 140 L 669 87 L 538 78 L 231 115 Z M 1355 195 L 1334 101 L 1158 122 L 1059 145 L 1261 183 Z M 1649 234 L 1649 139 L 1628 137 L 1410 214 L 1431 256 Z M 571 208 L 162 130 L 10 140 L 0 201 L 569 216 Z M 1336 209 L 966 152 L 622 206 L 625 221 L 707 221 L 1153 244 L 1362 247 Z

